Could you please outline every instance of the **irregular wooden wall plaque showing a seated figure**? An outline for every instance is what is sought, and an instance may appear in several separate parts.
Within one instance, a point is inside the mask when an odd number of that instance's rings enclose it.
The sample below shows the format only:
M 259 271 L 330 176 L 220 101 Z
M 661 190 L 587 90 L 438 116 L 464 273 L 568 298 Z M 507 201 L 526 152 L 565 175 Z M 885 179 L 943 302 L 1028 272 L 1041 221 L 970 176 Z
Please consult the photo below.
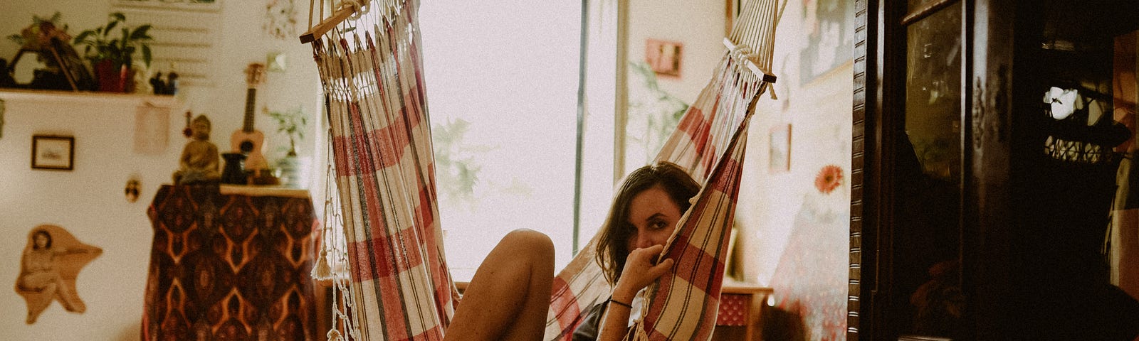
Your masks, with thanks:
M 75 278 L 101 253 L 103 249 L 80 242 L 63 227 L 40 225 L 32 228 L 16 277 L 16 293 L 27 302 L 25 323 L 34 324 L 54 301 L 59 301 L 71 313 L 87 311 L 87 305 L 75 291 Z

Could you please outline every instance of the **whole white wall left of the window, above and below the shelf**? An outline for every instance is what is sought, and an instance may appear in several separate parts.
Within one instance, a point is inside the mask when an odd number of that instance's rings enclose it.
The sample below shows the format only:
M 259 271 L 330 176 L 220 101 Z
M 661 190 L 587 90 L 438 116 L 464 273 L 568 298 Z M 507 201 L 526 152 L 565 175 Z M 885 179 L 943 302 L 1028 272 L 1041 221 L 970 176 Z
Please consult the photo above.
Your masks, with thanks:
M 300 1 L 297 1 L 300 3 Z M 171 98 L 137 95 L 56 95 L 13 94 L 0 91 L 6 102 L 0 127 L 0 232 L 11 238 L 0 242 L 0 278 L 15 280 L 21 251 L 30 230 L 39 224 L 67 228 L 80 241 L 103 248 L 80 273 L 77 291 L 87 303 L 85 314 L 64 311 L 52 303 L 33 325 L 26 325 L 26 306 L 15 291 L 0 293 L 0 340 L 138 340 L 142 296 L 149 265 L 150 222 L 147 206 L 162 183 L 170 182 L 178 167 L 186 139 L 182 114 L 191 109 L 213 122 L 212 142 L 229 150 L 229 135 L 240 128 L 245 108 L 246 82 L 243 70 L 254 61 L 264 63 L 267 53 L 287 55 L 287 69 L 271 72 L 259 93 L 256 127 L 268 135 L 267 157 L 282 155 L 279 145 L 287 138 L 274 134 L 276 125 L 260 115 L 260 108 L 282 110 L 302 106 L 313 117 L 302 156 L 323 158 L 314 150 L 319 82 L 312 52 L 295 38 L 273 39 L 262 32 L 265 1 L 222 1 L 222 26 L 216 34 L 213 86 L 187 86 Z M 16 0 L 0 3 L 0 34 L 7 36 L 31 24 L 32 14 L 63 14 L 71 32 L 106 23 L 112 11 L 107 0 Z M 300 8 L 298 8 L 300 10 Z M 306 10 L 297 18 L 306 19 Z M 128 22 L 132 25 L 131 17 Z M 303 26 L 301 23 L 298 26 Z M 304 30 L 303 27 L 298 30 Z M 10 59 L 16 47 L 0 41 L 0 58 Z M 133 151 L 134 110 L 144 101 L 172 103 L 170 140 L 159 155 Z M 75 136 L 75 169 L 71 172 L 33 170 L 30 167 L 33 134 L 57 133 Z M 318 167 L 319 168 L 319 167 Z M 126 202 L 123 188 L 132 174 L 141 177 L 138 202 Z M 322 178 L 321 172 L 313 177 Z M 318 186 L 319 188 L 319 186 Z M 323 194 L 313 189 L 316 198 Z M 321 200 L 314 200 L 320 202 Z M 318 213 L 321 207 L 317 207 Z M 10 286 L 9 286 L 10 288 Z

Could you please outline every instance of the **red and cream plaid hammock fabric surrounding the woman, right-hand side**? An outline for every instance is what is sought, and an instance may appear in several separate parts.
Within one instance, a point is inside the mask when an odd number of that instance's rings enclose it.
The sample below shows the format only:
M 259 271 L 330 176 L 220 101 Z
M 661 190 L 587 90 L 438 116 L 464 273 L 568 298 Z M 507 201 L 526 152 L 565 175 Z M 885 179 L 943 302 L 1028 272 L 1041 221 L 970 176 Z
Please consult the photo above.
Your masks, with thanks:
M 765 84 L 726 57 L 716 75 L 689 107 L 657 155 L 689 169 L 704 186 L 678 223 L 665 257 L 677 263 L 650 292 L 638 334 L 648 340 L 707 340 L 715 324 L 727 244 L 747 142 L 748 108 Z M 605 300 L 612 288 L 593 260 L 593 236 L 554 281 L 546 340 L 570 340 L 581 313 Z

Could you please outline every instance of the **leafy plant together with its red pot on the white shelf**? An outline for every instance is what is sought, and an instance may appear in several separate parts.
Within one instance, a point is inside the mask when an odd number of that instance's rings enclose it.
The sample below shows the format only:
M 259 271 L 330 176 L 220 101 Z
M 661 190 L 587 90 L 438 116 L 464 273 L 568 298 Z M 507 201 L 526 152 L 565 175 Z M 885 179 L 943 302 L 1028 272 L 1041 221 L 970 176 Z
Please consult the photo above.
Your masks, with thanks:
M 83 55 L 91 63 L 99 81 L 99 90 L 112 92 L 130 92 L 133 85 L 131 68 L 134 52 L 142 52 L 142 61 L 150 66 L 150 24 L 131 28 L 126 26 L 126 16 L 113 13 L 106 25 L 80 32 L 73 41 L 83 44 Z M 116 30 L 117 28 L 117 30 Z

